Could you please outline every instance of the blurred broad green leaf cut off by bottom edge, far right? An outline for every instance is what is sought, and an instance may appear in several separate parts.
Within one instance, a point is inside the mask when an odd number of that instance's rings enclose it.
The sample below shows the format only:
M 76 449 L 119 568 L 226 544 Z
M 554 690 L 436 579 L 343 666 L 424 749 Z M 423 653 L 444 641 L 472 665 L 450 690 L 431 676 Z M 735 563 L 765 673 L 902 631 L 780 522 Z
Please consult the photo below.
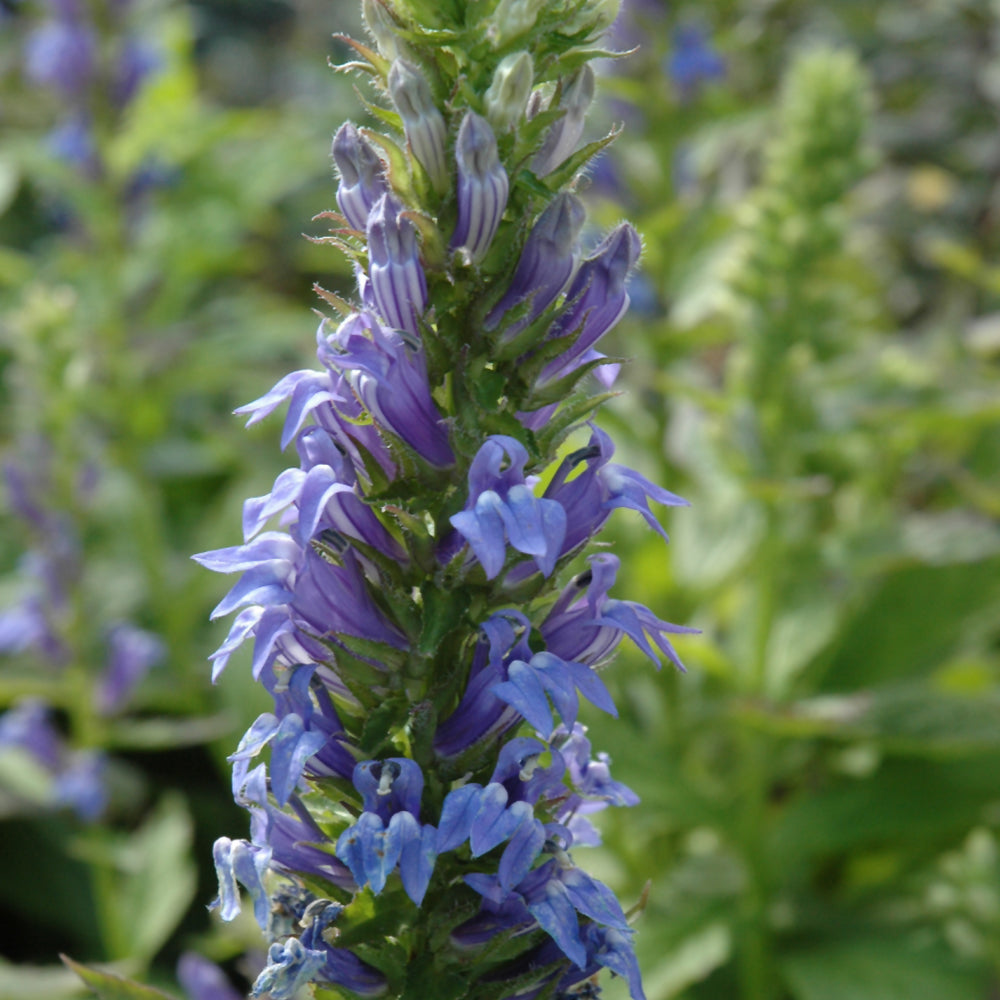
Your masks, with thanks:
M 868 938 L 793 952 L 782 971 L 796 1000 L 982 1000 L 986 995 L 984 970 L 901 940 Z

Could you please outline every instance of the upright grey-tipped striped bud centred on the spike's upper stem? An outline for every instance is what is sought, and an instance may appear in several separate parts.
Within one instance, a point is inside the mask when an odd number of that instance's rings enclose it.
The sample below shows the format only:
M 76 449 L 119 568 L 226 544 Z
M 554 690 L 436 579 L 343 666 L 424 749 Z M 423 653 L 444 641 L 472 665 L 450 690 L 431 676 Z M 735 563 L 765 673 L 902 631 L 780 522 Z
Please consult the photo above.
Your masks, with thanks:
M 485 256 L 507 207 L 509 182 L 497 141 L 485 118 L 470 111 L 458 130 L 458 223 L 452 248 L 464 247 L 473 261 Z

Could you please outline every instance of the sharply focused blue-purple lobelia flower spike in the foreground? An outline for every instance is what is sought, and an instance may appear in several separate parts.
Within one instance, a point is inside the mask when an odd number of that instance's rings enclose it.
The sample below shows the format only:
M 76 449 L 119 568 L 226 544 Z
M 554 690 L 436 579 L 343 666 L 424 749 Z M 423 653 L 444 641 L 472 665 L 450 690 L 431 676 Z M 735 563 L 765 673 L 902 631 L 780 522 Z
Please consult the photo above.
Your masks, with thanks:
M 343 39 L 391 105 L 369 105 L 388 134 L 333 140 L 323 242 L 356 300 L 317 288 L 340 316 L 320 369 L 238 411 L 287 402 L 299 465 L 246 501 L 244 544 L 195 557 L 242 574 L 213 679 L 252 640 L 274 698 L 230 758 L 251 837 L 214 848 L 214 905 L 233 919 L 242 886 L 271 942 L 254 996 L 593 997 L 606 968 L 643 997 L 629 915 L 571 853 L 638 801 L 581 696 L 614 715 L 622 639 L 680 667 L 692 631 L 612 597 L 595 541 L 617 508 L 664 534 L 650 502 L 685 503 L 591 419 L 641 249 L 622 223 L 580 251 L 615 6 L 365 0 L 376 49 Z

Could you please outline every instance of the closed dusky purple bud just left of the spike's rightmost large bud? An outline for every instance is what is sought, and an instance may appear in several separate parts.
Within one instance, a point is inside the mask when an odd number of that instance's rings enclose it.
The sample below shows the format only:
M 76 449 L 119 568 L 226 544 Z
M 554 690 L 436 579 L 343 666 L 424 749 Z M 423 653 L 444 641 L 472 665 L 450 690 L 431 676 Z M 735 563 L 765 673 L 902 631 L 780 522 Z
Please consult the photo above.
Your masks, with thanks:
M 528 315 L 504 330 L 504 339 L 510 340 L 552 304 L 573 275 L 576 241 L 585 218 L 586 210 L 574 195 L 563 192 L 552 200 L 528 235 L 510 287 L 486 317 L 487 330 L 495 329 L 509 310 L 530 300 Z

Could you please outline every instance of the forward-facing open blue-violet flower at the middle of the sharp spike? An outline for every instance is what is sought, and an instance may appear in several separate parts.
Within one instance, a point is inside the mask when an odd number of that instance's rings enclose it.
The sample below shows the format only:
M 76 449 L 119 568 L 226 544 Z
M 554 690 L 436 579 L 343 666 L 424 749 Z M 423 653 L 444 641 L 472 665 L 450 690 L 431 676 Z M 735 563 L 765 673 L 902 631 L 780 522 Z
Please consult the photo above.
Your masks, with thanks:
M 469 499 L 452 515 L 453 527 L 469 543 L 492 580 L 507 559 L 506 542 L 534 556 L 550 576 L 566 537 L 566 512 L 554 500 L 539 498 L 524 478 L 528 453 L 511 437 L 486 439 L 469 467 Z

